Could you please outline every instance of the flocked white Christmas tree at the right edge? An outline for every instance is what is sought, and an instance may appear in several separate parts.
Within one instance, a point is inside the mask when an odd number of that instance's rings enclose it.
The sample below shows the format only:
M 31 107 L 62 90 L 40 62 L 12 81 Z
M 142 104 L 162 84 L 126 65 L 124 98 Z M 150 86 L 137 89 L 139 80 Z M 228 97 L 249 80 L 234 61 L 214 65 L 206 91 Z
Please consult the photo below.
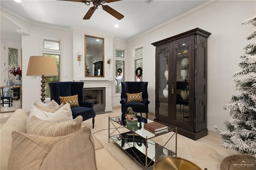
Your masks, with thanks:
M 252 24 L 256 28 L 256 16 L 242 22 L 242 25 L 245 24 Z M 234 73 L 233 77 L 248 76 L 234 80 L 236 90 L 241 94 L 232 95 L 230 103 L 224 106 L 232 119 L 224 122 L 227 131 L 218 126 L 214 128 L 222 137 L 222 146 L 256 158 L 256 32 L 248 36 L 247 40 L 253 40 L 254 43 L 244 47 L 245 52 L 240 56 L 239 63 L 242 70 Z

